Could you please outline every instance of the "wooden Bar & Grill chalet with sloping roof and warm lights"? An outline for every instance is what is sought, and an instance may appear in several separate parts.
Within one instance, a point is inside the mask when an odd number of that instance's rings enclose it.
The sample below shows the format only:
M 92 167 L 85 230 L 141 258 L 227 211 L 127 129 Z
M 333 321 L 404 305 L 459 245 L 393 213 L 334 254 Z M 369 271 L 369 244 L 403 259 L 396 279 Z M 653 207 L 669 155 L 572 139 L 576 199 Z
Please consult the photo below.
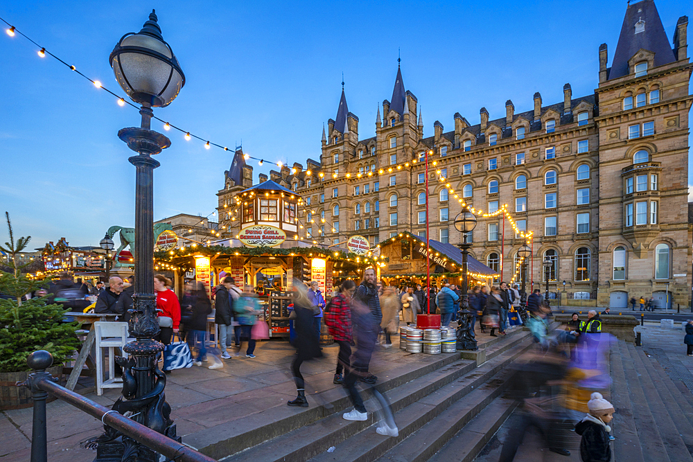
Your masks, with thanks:
M 430 256 L 426 258 L 426 239 L 411 233 L 399 233 L 380 243 L 380 256 L 387 263 L 380 267 L 380 279 L 389 285 L 426 286 L 426 265 L 430 265 L 430 283 L 440 288 L 445 283 L 462 285 L 462 251 L 454 245 L 430 240 Z M 469 287 L 491 286 L 498 273 L 473 256 L 467 256 Z

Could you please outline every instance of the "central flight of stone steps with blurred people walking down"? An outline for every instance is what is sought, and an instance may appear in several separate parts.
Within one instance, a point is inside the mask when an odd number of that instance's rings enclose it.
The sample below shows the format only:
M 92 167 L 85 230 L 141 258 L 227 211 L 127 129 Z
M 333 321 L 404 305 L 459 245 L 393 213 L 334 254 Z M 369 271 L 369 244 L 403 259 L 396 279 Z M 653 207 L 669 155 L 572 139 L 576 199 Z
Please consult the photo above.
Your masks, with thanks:
M 529 332 L 516 329 L 487 341 L 476 355 L 443 354 L 435 364 L 378 384 L 392 404 L 399 428 L 397 438 L 376 434 L 376 420 L 371 413 L 378 409 L 374 398 L 365 403 L 367 421 L 344 420 L 342 414 L 351 409 L 351 404 L 346 392 L 335 386 L 333 393 L 325 396 L 324 404 L 315 406 L 310 418 L 306 416 L 310 413 L 302 412 L 256 427 L 247 432 L 247 438 L 236 438 L 234 446 L 238 449 L 227 452 L 231 455 L 221 460 L 426 461 L 460 430 L 471 426 L 464 438 L 464 454 L 456 452 L 454 458 L 471 461 L 516 406 L 502 398 L 512 373 L 507 366 L 532 344 Z M 370 396 L 364 393 L 365 398 Z M 260 442 L 258 434 L 270 437 Z M 328 452 L 331 447 L 333 450 Z

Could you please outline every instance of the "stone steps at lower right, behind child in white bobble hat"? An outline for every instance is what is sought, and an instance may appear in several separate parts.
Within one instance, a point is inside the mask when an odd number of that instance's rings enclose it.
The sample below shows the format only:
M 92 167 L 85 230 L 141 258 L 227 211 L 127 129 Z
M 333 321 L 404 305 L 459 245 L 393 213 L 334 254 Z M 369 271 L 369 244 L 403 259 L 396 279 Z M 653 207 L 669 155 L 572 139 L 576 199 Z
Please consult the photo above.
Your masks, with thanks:
M 611 351 L 611 377 L 614 460 L 693 462 L 693 394 L 624 340 Z

